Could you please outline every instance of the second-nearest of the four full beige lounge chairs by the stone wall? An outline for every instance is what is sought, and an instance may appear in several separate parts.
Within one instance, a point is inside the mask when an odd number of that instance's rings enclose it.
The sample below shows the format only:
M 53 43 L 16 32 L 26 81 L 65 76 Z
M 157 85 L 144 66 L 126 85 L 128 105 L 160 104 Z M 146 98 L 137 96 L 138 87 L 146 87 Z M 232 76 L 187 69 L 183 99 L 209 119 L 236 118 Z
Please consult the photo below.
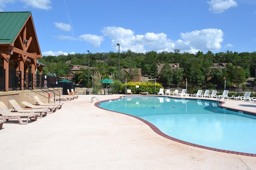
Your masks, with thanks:
M 18 111 L 20 113 L 28 113 L 28 112 L 34 112 L 34 113 L 40 113 L 40 117 L 38 117 L 39 119 L 42 118 L 43 116 L 47 115 L 47 112 L 50 110 L 48 108 L 44 108 L 44 109 L 25 109 L 22 108 L 14 99 L 9 99 L 10 104 L 12 105 L 12 107 L 14 108 L 14 111 Z

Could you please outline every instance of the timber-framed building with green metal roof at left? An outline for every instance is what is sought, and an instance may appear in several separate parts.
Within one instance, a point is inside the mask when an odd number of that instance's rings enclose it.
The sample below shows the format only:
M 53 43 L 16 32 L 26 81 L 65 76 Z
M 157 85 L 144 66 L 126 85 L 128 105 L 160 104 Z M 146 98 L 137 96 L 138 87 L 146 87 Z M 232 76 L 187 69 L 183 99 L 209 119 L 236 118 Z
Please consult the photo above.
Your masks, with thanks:
M 0 88 L 4 86 L 3 91 L 8 91 L 14 86 L 9 84 L 12 83 L 9 81 L 10 71 L 18 71 L 22 80 L 29 70 L 33 79 L 36 70 L 42 74 L 42 67 L 46 65 L 38 63 L 38 58 L 42 58 L 42 54 L 31 12 L 0 12 L 0 79 L 4 78 Z M 24 81 L 20 83 L 22 89 L 27 86 Z

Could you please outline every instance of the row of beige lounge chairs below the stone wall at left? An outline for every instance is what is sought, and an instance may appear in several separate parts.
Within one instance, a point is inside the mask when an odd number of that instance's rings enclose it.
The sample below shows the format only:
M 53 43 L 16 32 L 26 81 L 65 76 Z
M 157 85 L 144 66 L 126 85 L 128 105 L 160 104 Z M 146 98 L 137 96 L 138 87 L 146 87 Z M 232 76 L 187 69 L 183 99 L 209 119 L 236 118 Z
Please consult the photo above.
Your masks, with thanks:
M 53 113 L 58 109 L 61 109 L 64 103 L 58 104 L 45 104 L 38 98 L 38 96 L 33 96 L 36 100 L 36 104 L 30 104 L 28 102 L 21 102 L 26 107 L 21 107 L 18 102 L 14 99 L 10 99 L 9 102 L 13 109 L 9 110 L 4 102 L 0 102 L 0 129 L 2 128 L 2 123 L 8 121 L 9 119 L 17 119 L 21 125 L 26 125 L 29 120 L 36 121 L 47 115 L 47 113 Z M 22 118 L 26 118 L 23 121 Z

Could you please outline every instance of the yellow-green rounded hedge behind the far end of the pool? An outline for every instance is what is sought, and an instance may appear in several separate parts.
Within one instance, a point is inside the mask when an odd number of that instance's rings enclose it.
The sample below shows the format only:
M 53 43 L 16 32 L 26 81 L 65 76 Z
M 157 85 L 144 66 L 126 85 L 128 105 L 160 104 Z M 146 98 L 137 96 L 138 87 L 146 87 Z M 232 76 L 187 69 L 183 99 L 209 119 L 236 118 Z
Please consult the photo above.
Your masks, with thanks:
M 136 86 L 139 86 L 139 88 L 136 88 Z M 163 88 L 163 86 L 160 83 L 156 83 L 156 88 L 155 88 L 155 82 L 126 83 L 126 89 L 131 89 L 133 94 L 139 94 L 139 92 L 148 92 L 148 94 L 157 94 L 160 88 Z M 122 86 L 120 87 L 120 90 L 122 91 L 123 94 L 126 94 L 125 84 L 122 84 Z

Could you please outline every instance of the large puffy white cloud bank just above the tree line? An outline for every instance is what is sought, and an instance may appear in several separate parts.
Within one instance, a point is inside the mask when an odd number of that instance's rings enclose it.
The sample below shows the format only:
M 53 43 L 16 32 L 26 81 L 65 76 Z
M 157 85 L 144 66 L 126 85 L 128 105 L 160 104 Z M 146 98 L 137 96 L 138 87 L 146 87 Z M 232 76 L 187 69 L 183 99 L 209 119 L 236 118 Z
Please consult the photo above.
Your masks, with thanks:
M 181 33 L 181 38 L 176 41 L 168 39 L 164 33 L 145 33 L 145 35 L 135 35 L 134 31 L 122 27 L 104 27 L 101 31 L 112 41 L 112 47 L 120 50 L 131 50 L 137 53 L 146 51 L 168 51 L 173 52 L 179 49 L 181 52 L 196 53 L 200 51 L 215 51 L 221 48 L 223 32 L 220 29 L 203 29 Z

